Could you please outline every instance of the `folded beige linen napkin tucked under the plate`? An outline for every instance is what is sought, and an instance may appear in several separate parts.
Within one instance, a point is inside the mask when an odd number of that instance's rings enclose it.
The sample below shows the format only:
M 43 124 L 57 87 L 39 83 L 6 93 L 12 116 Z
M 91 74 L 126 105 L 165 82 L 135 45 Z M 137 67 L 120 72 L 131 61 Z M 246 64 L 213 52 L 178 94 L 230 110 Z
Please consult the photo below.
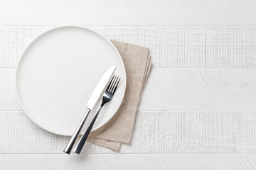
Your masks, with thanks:
M 112 41 L 124 61 L 127 89 L 117 113 L 102 128 L 92 132 L 89 142 L 118 152 L 122 143 L 129 144 L 142 91 L 151 70 L 151 57 L 145 47 Z

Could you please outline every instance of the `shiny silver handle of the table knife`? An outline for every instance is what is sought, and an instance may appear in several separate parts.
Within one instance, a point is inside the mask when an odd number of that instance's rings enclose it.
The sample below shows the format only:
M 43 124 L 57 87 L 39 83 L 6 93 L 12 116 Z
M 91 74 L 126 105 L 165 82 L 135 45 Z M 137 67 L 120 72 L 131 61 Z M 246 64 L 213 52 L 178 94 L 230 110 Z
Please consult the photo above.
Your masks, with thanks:
M 85 120 L 87 119 L 90 111 L 91 110 L 88 108 L 85 115 L 82 117 L 82 120 L 80 121 L 80 123 L 78 125 L 78 128 L 75 129 L 75 132 L 74 132 L 73 136 L 71 137 L 70 141 L 68 142 L 68 145 L 63 150 L 63 152 L 65 152 L 66 154 L 70 154 L 71 149 L 72 149 L 73 145 L 75 144 L 75 140 L 78 138 L 78 135 L 82 129 L 82 126 L 85 124 Z

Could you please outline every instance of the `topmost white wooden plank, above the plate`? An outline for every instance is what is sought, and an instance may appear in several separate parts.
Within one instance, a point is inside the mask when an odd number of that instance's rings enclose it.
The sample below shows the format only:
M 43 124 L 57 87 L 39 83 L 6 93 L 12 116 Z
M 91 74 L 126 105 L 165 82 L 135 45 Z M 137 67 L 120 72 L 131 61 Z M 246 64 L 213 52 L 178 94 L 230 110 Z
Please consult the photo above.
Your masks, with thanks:
M 254 0 L 1 1 L 4 25 L 256 25 Z

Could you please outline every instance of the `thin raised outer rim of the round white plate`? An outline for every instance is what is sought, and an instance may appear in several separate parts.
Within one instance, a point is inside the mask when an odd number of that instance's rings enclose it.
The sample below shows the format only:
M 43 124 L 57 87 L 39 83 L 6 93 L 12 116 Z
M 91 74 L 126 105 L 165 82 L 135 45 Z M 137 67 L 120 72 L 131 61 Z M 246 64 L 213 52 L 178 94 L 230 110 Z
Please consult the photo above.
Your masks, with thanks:
M 21 98 L 20 96 L 18 95 L 18 84 L 17 84 L 17 75 L 18 75 L 18 68 L 20 66 L 20 63 L 21 63 L 21 60 L 23 58 L 23 55 L 26 53 L 26 51 L 28 50 L 29 47 L 31 47 L 31 45 L 33 45 L 34 42 L 36 42 L 36 40 L 38 40 L 38 38 L 41 38 L 43 35 L 45 35 L 46 33 L 50 32 L 50 31 L 53 31 L 53 30 L 57 30 L 59 28 L 68 28 L 68 27 L 73 27 L 73 28 L 82 28 L 82 29 L 85 29 L 85 30 L 89 30 L 91 31 L 92 33 L 95 33 L 97 34 L 98 36 L 100 36 L 101 38 L 103 38 L 104 40 L 106 40 L 111 46 L 112 48 L 115 50 L 115 52 L 117 52 L 117 55 L 120 59 L 120 61 L 122 62 L 122 67 L 124 68 L 124 80 L 125 83 L 124 83 L 124 94 L 122 95 L 122 100 L 120 100 L 120 103 L 119 103 L 119 106 L 117 107 L 117 111 L 119 110 L 121 104 L 122 104 L 122 101 L 124 100 L 124 95 L 126 93 L 126 89 L 127 89 L 127 73 L 126 73 L 126 68 L 125 68 L 125 65 L 124 65 L 124 60 L 122 59 L 122 56 L 120 55 L 119 51 L 117 50 L 117 47 L 114 46 L 114 44 L 105 37 L 105 35 L 101 35 L 100 33 L 97 33 L 95 32 L 94 30 L 91 30 L 90 28 L 86 28 L 85 26 L 73 26 L 73 25 L 68 25 L 68 26 L 56 26 L 54 28 L 50 28 L 49 30 L 45 30 L 43 31 L 43 33 L 40 33 L 38 36 L 36 36 L 36 38 L 33 38 L 33 40 L 31 40 L 31 42 L 28 43 L 28 45 L 26 45 L 26 47 L 24 47 L 24 50 L 21 52 L 21 55 L 19 55 L 20 57 L 18 58 L 18 62 L 16 64 L 16 68 L 15 68 L 15 91 L 16 91 L 16 96 L 18 98 L 18 102 L 19 104 L 21 105 L 21 108 L 23 109 L 23 112 L 26 113 L 26 115 L 28 116 L 28 118 L 33 122 L 35 123 L 36 125 L 38 125 L 38 122 L 33 120 L 31 117 L 31 115 L 28 114 L 28 112 L 26 111 L 25 107 L 23 106 L 23 103 L 21 103 Z M 87 105 L 87 103 L 86 103 Z M 107 124 L 112 118 L 113 116 L 117 113 L 117 111 L 115 111 L 114 114 L 112 114 L 112 116 L 102 125 L 99 125 L 99 126 L 96 126 L 96 128 L 92 128 L 92 132 L 95 131 L 95 130 L 98 130 L 99 128 L 102 128 L 102 126 L 104 126 L 105 124 Z M 38 127 L 42 128 L 43 130 L 46 130 L 48 132 L 51 132 L 55 135 L 62 135 L 62 136 L 71 136 L 71 135 L 67 135 L 67 134 L 64 134 L 64 133 L 58 133 L 58 132 L 52 132 L 46 128 L 43 128 L 41 125 L 38 125 Z

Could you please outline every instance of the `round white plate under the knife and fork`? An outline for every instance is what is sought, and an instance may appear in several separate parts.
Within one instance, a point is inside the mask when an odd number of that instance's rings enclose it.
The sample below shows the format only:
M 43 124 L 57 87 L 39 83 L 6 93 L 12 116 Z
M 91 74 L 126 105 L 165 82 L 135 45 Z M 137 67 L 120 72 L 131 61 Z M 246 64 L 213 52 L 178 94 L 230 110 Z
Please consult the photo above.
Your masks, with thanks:
M 122 103 L 126 73 L 112 42 L 92 30 L 55 28 L 31 42 L 17 67 L 18 99 L 28 117 L 41 128 L 58 135 L 73 135 L 92 91 L 112 65 L 117 66 L 114 74 L 121 81 L 114 98 L 97 118 L 92 129 L 96 130 L 112 118 Z

